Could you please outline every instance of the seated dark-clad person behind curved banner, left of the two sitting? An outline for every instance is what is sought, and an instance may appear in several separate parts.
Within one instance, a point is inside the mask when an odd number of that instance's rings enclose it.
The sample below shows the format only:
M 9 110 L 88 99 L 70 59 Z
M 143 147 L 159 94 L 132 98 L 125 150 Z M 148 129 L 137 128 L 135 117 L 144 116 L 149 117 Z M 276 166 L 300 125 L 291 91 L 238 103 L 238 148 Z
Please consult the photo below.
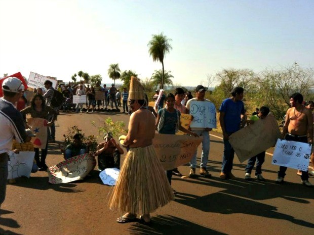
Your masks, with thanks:
M 81 154 L 88 153 L 88 146 L 83 143 L 83 135 L 76 133 L 73 136 L 72 143 L 65 147 L 64 159 L 69 159 Z

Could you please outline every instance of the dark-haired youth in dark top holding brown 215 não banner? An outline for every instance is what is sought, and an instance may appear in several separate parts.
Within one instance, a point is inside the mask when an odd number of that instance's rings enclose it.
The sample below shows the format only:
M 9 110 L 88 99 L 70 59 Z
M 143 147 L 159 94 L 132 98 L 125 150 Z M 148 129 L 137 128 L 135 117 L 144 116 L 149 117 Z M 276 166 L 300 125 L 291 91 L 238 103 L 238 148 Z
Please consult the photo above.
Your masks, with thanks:
M 156 129 L 160 134 L 176 134 L 178 130 L 183 131 L 184 133 L 198 136 L 198 134 L 191 132 L 185 129 L 180 123 L 180 112 L 174 108 L 175 97 L 172 93 L 169 93 L 165 99 L 166 108 L 160 109 L 158 111 Z M 167 178 L 171 184 L 173 170 L 167 170 Z M 173 193 L 176 194 L 176 191 L 173 190 Z

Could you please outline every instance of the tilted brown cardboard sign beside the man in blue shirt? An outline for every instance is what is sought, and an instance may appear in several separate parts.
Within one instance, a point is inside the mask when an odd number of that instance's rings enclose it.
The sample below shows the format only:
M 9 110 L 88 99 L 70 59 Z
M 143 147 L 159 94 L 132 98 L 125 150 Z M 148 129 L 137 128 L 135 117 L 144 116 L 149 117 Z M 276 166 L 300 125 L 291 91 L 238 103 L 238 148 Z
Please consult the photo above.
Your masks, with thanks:
M 264 119 L 231 134 L 229 142 L 242 163 L 274 146 L 280 137 L 276 118 L 269 113 Z

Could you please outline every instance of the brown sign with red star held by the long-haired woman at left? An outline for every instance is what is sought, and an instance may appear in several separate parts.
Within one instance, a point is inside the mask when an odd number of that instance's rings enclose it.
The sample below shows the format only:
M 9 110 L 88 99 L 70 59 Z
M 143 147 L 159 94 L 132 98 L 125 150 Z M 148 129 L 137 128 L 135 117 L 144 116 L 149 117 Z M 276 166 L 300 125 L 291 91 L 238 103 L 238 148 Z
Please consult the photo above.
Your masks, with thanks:
M 35 137 L 31 137 L 31 142 L 34 144 L 34 148 L 46 149 L 48 138 L 48 120 L 44 118 L 29 118 L 27 119 L 29 129 Z

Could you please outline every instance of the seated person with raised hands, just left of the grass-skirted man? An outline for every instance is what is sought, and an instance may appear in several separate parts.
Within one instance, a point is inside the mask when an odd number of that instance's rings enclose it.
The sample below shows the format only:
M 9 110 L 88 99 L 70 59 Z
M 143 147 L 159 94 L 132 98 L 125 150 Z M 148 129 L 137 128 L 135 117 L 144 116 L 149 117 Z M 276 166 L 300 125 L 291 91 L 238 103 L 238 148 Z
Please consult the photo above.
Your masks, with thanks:
M 120 157 L 121 154 L 124 154 L 123 149 L 115 142 L 111 133 L 106 134 L 104 140 L 98 145 L 95 153 L 95 156 L 98 156 L 98 169 L 100 171 L 113 167 L 120 169 Z

